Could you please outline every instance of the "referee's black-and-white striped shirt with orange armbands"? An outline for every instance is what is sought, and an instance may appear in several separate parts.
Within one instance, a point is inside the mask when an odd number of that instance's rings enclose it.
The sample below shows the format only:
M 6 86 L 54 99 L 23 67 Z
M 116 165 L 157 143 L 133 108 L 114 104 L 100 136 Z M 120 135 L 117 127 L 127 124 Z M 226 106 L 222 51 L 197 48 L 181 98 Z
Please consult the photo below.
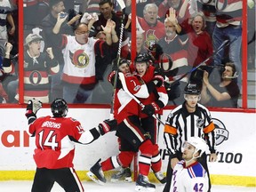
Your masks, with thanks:
M 210 111 L 197 103 L 196 111 L 189 113 L 186 102 L 174 108 L 164 125 L 164 141 L 171 157 L 181 152 L 182 143 L 190 137 L 204 138 L 211 153 L 215 153 L 214 124 Z

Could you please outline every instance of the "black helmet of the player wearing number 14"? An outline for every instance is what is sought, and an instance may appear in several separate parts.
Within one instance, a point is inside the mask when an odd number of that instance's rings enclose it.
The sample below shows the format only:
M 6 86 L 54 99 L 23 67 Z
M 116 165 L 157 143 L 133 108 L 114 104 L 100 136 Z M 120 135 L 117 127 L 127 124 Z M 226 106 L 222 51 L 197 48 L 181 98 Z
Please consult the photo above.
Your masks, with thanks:
M 52 115 L 55 117 L 64 117 L 68 114 L 68 103 L 63 99 L 55 99 L 51 105 Z

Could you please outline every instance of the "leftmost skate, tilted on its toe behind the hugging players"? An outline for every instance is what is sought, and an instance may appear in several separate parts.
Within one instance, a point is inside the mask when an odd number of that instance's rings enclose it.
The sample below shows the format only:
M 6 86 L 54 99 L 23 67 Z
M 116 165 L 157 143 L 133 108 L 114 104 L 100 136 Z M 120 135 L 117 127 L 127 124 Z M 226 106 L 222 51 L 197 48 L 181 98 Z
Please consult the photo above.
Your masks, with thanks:
M 87 175 L 94 182 L 104 185 L 107 180 L 104 176 L 104 172 L 101 169 L 100 161 L 101 159 L 99 159 L 99 161 L 91 167 L 90 172 L 87 172 Z

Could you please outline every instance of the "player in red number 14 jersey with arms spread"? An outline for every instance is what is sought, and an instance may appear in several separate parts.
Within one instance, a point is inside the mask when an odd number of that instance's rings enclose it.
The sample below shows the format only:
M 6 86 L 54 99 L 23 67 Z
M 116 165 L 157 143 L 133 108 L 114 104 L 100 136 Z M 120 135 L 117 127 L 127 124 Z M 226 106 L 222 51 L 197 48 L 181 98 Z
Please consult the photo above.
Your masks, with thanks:
M 98 127 L 84 131 L 80 122 L 66 117 L 68 113 L 66 100 L 53 100 L 52 116 L 36 118 L 36 112 L 41 107 L 40 101 L 28 100 L 26 112 L 28 133 L 36 137 L 34 151 L 36 175 L 31 191 L 51 191 L 55 181 L 65 191 L 84 191 L 73 164 L 75 145 L 89 144 L 97 140 L 100 135 L 116 128 L 116 120 L 105 120 Z

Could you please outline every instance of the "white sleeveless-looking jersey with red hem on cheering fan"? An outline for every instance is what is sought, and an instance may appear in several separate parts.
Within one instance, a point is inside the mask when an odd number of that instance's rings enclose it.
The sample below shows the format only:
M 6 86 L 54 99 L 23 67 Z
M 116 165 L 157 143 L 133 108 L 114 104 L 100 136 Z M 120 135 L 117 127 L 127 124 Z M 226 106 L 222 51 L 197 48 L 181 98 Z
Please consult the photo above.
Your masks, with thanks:
M 62 80 L 69 84 L 95 84 L 94 44 L 97 40 L 89 37 L 86 44 L 79 44 L 75 36 L 66 37 Z

